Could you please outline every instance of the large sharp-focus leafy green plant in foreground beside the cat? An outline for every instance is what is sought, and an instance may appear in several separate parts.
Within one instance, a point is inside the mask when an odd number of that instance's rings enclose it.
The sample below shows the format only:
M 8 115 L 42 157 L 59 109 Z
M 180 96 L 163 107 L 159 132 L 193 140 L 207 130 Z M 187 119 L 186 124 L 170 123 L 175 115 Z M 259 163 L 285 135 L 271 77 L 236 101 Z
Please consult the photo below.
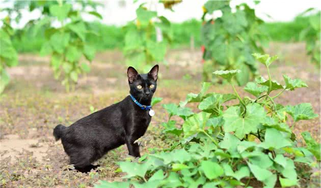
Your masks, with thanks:
M 277 58 L 254 57 L 268 72 Z M 214 74 L 232 84 L 240 71 Z M 267 80 L 247 83 L 245 91 L 254 98 L 241 98 L 233 85 L 234 93 L 206 93 L 211 84 L 205 82 L 200 93 L 190 93 L 179 105 L 164 105 L 169 113 L 164 131 L 176 135 L 176 144 L 146 154 L 138 163 L 119 162 L 126 180 L 101 181 L 95 187 L 288 187 L 299 185 L 302 178 L 311 182 L 312 172 L 302 169 L 318 166 L 319 143 L 304 132 L 307 146 L 299 147 L 292 130 L 296 122 L 317 115 L 308 103 L 277 104 L 275 99 L 284 91 L 307 87 L 302 80 L 286 75 L 284 83 L 272 80 L 269 74 Z M 272 95 L 273 90 L 280 91 Z M 198 103 L 201 111 L 194 113 L 185 107 L 188 103 Z M 172 120 L 173 116 L 181 117 L 183 123 Z

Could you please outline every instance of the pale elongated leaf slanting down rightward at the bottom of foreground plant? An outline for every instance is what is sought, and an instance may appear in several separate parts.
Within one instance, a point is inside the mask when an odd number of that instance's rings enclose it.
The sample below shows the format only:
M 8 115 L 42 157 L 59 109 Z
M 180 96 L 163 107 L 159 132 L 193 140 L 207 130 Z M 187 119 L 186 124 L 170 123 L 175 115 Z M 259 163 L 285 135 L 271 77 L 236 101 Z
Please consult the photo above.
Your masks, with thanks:
M 248 166 L 256 179 L 264 182 L 264 184 L 268 187 L 274 187 L 277 180 L 276 174 L 272 174 L 272 172 L 270 172 L 269 170 L 261 168 L 257 165 L 253 165 L 251 163 L 248 163 Z

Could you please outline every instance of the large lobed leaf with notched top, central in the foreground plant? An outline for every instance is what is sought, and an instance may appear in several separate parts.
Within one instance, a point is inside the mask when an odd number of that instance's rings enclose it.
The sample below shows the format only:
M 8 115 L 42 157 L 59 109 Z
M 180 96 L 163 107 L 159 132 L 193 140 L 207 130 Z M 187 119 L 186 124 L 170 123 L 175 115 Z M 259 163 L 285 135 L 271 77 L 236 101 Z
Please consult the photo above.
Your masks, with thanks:
M 223 113 L 224 130 L 226 132 L 234 131 L 237 138 L 243 139 L 246 134 L 256 133 L 257 127 L 266 116 L 265 110 L 257 103 L 251 103 L 246 106 L 244 117 L 240 114 L 240 107 L 233 106 Z

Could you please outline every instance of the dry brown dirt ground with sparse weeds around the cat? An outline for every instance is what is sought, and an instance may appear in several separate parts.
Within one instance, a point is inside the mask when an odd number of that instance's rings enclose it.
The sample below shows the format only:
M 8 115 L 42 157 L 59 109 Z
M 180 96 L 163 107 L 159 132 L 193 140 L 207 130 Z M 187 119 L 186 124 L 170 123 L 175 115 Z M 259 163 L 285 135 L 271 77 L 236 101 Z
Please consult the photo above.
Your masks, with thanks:
M 320 73 L 305 55 L 303 44 L 274 43 L 267 50 L 279 55 L 272 66 L 274 79 L 281 83 L 283 74 L 301 78 L 308 88 L 285 92 L 277 100 L 281 104 L 311 103 L 320 115 Z M 10 68 L 11 82 L 0 98 L 0 186 L 4 187 L 90 187 L 99 179 L 118 180 L 115 162 L 128 160 L 127 148 L 119 147 L 97 163 L 100 172 L 83 174 L 70 171 L 68 157 L 61 142 L 56 142 L 52 129 L 57 124 L 69 126 L 75 120 L 122 100 L 128 95 L 126 66 L 119 51 L 97 54 L 91 72 L 79 78 L 75 91 L 65 92 L 53 79 L 48 57 L 19 55 L 19 66 Z M 162 104 L 178 103 L 189 92 L 198 92 L 202 82 L 201 52 L 188 49 L 171 50 L 161 66 L 155 97 L 164 98 Z M 267 76 L 263 67 L 260 73 Z M 191 75 L 190 77 L 185 75 Z M 215 92 L 230 92 L 228 85 L 214 85 Z M 240 88 L 242 96 L 248 95 Z M 167 120 L 161 105 L 154 107 L 156 115 L 142 139 L 142 153 L 166 147 L 159 124 Z M 320 119 L 301 121 L 295 132 L 310 131 L 320 140 Z M 299 136 L 299 141 L 301 137 Z

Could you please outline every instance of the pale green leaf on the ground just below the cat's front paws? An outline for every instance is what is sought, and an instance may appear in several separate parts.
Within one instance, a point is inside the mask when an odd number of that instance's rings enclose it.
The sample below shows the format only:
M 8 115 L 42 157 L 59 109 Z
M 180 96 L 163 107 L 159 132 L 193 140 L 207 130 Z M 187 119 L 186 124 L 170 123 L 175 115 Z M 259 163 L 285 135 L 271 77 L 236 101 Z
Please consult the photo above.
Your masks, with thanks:
M 118 162 L 120 169 L 126 172 L 127 175 L 124 178 L 131 178 L 135 176 L 145 177 L 149 165 L 146 163 L 131 163 L 131 162 Z

